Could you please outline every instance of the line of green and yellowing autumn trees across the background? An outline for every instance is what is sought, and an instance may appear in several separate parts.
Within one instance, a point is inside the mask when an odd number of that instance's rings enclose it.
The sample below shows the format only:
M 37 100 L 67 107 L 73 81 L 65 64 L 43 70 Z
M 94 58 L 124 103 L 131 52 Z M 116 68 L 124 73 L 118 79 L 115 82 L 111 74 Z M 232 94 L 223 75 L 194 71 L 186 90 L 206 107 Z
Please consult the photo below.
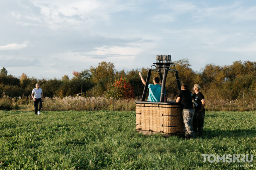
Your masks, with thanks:
M 192 89 L 193 84 L 199 84 L 201 91 L 208 101 L 242 100 L 243 102 L 255 102 L 256 98 L 256 62 L 235 61 L 232 65 L 207 64 L 200 71 L 193 71 L 188 59 L 175 61 L 181 84 L 187 84 Z M 10 97 L 29 96 L 39 83 L 46 97 L 65 97 L 82 95 L 109 96 L 107 90 L 121 77 L 133 87 L 134 97 L 140 98 L 144 89 L 138 72 L 142 71 L 146 79 L 148 68 L 133 69 L 131 71 L 116 71 L 111 62 L 100 62 L 96 67 L 90 67 L 82 71 L 73 71 L 73 77 L 64 75 L 62 79 L 36 79 L 29 78 L 25 73 L 20 77 L 8 75 L 3 67 L 0 73 L 0 95 L 5 93 Z M 158 76 L 152 72 L 151 77 Z M 152 79 L 150 83 L 153 84 Z M 131 89 L 131 88 L 129 88 Z M 174 74 L 167 75 L 166 94 L 169 98 L 175 98 L 178 94 L 178 86 Z

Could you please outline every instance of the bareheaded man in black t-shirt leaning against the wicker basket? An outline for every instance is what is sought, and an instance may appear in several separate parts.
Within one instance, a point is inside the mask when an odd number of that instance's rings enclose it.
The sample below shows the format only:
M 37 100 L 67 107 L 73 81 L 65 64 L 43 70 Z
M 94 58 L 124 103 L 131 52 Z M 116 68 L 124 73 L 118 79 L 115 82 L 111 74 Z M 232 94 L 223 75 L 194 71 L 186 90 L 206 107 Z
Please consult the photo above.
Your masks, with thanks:
M 191 98 L 191 91 L 188 89 L 188 85 L 182 85 L 176 102 L 181 102 L 183 106 L 182 115 L 185 124 L 185 138 L 194 138 L 192 120 L 194 116 L 193 103 Z

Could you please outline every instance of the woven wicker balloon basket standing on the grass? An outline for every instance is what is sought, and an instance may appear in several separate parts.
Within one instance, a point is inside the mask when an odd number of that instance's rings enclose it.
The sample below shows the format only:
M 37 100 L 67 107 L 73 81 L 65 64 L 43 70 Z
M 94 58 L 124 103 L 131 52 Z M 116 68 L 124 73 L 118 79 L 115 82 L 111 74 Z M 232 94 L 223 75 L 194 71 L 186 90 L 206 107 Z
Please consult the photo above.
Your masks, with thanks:
M 145 135 L 161 133 L 164 135 L 184 135 L 182 108 L 176 102 L 136 103 L 136 131 Z

